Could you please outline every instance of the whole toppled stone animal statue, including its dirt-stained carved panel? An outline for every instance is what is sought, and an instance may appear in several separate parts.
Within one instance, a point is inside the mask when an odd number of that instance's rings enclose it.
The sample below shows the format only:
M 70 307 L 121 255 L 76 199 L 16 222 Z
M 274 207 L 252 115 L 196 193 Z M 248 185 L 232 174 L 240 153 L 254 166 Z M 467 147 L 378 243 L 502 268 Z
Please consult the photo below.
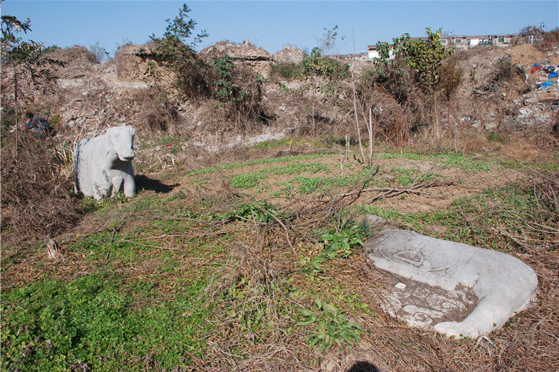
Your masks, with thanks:
M 405 284 L 386 292 L 385 311 L 447 336 L 489 334 L 528 306 L 537 289 L 535 271 L 511 255 L 412 231 L 384 230 L 365 251 Z

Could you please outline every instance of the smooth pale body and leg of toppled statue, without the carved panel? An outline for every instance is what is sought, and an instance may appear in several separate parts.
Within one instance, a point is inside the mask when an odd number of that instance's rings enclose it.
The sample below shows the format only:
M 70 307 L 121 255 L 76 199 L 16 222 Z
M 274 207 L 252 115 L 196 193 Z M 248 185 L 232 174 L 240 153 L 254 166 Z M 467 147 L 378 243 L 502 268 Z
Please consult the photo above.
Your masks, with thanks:
M 447 336 L 484 336 L 523 310 L 535 296 L 537 276 L 511 255 L 426 237 L 405 230 L 384 230 L 365 248 L 376 267 L 452 292 L 471 288 L 479 302 L 460 322 L 440 322 Z

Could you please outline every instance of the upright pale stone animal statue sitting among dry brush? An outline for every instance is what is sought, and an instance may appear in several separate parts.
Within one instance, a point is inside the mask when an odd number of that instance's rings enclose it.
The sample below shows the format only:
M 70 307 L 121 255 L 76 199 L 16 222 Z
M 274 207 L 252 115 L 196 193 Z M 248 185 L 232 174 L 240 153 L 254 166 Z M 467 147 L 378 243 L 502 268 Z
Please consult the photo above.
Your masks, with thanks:
M 134 134 L 131 126 L 117 126 L 78 142 L 74 155 L 75 192 L 96 200 L 113 198 L 121 191 L 129 198 L 136 195 L 132 170 Z

